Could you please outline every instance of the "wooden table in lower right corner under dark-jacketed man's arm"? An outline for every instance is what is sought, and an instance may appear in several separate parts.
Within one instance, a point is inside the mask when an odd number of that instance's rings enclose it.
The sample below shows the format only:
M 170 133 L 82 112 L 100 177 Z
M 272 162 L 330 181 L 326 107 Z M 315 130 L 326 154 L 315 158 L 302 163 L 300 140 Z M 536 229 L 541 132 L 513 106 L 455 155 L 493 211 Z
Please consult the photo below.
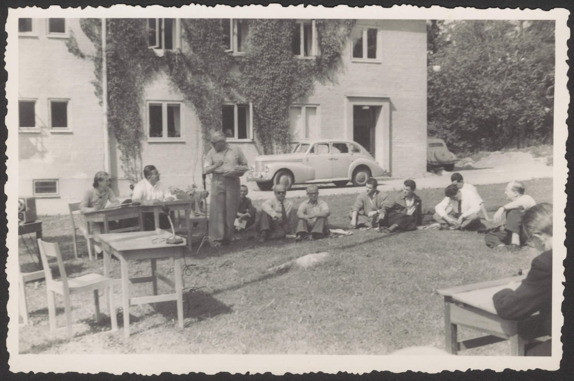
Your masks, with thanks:
M 540 314 L 533 314 L 522 320 L 505 320 L 497 315 L 492 296 L 499 290 L 509 288 L 510 282 L 521 282 L 526 275 L 497 279 L 495 281 L 437 290 L 444 296 L 444 324 L 446 351 L 476 348 L 482 345 L 510 340 L 511 355 L 524 356 L 530 340 L 548 336 Z M 486 336 L 458 341 L 458 326 L 466 326 L 487 333 Z

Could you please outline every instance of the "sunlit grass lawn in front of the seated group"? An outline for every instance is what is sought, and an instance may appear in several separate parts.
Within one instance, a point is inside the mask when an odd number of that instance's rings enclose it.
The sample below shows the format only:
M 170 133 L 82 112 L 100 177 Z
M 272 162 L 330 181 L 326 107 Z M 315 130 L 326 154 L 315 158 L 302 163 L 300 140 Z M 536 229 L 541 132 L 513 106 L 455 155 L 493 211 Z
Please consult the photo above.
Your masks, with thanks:
M 525 182 L 527 193 L 552 202 L 552 179 Z M 476 186 L 490 216 L 506 203 L 505 184 Z M 424 206 L 437 204 L 443 189 L 417 191 Z M 323 197 L 331 207 L 331 227 L 347 229 L 355 195 Z M 298 205 L 302 199 L 291 199 Z M 258 207 L 258 204 L 255 204 Z M 68 275 L 102 273 L 102 260 L 89 262 L 83 238 L 81 259 L 73 258 L 68 216 L 42 216 L 44 239 L 59 242 Z M 488 227 L 494 223 L 487 223 Z M 197 227 L 197 235 L 204 227 Z M 33 239 L 26 243 L 32 248 Z M 412 345 L 444 348 L 444 306 L 434 290 L 515 275 L 528 269 L 528 254 L 494 254 L 474 232 L 419 230 L 382 237 L 354 231 L 346 238 L 263 244 L 241 240 L 221 250 L 202 248 L 185 258 L 184 329 L 177 326 L 175 302 L 132 306 L 131 336 L 123 337 L 121 290 L 115 290 L 120 330 L 110 332 L 102 299 L 103 325 L 95 323 L 90 293 L 72 296 L 75 337 L 48 330 L 44 282 L 28 283 L 31 324 L 20 327 L 20 353 L 251 353 L 385 355 Z M 309 270 L 282 274 L 267 269 L 312 252 L 329 259 Z M 36 270 L 35 256 L 20 240 L 23 271 Z M 119 278 L 119 262 L 111 276 Z M 158 270 L 173 276 L 169 261 Z M 147 261 L 130 263 L 130 275 L 149 275 Z M 160 292 L 162 290 L 160 282 Z M 150 294 L 149 283 L 131 285 L 132 296 Z M 57 324 L 65 326 L 63 301 L 56 297 Z M 478 332 L 459 328 L 460 339 Z M 460 355 L 509 355 L 507 342 Z

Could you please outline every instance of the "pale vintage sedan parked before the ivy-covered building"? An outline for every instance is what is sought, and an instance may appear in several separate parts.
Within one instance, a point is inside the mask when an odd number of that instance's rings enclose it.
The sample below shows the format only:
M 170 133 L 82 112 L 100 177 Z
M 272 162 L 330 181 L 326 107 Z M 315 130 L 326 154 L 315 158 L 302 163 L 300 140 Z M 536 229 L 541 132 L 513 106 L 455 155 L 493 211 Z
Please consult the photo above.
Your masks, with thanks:
M 369 177 L 385 174 L 385 169 L 359 143 L 314 139 L 297 143 L 291 153 L 258 155 L 247 181 L 257 181 L 261 190 L 270 190 L 275 184 L 290 189 L 293 184 L 320 182 L 344 186 L 352 181 L 355 186 L 363 186 Z

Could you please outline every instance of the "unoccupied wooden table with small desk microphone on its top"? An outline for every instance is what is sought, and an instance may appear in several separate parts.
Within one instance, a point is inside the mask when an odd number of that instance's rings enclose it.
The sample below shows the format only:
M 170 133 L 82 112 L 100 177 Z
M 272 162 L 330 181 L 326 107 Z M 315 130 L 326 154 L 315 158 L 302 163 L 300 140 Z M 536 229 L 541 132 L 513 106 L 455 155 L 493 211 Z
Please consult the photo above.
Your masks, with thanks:
M 110 259 L 114 255 L 121 264 L 121 284 L 122 284 L 122 305 L 123 305 L 123 326 L 124 335 L 130 336 L 130 305 L 147 304 L 154 302 L 165 302 L 174 300 L 177 302 L 177 320 L 180 328 L 183 328 L 183 279 L 181 278 L 181 259 L 185 252 L 185 242 L 180 244 L 168 244 L 161 241 L 172 234 L 164 230 L 124 232 L 100 234 L 104 251 L 104 276 L 110 276 Z M 161 258 L 173 259 L 173 273 L 175 282 L 159 274 L 156 270 L 156 261 Z M 130 278 L 128 271 L 129 261 L 141 261 L 150 259 L 152 265 L 152 276 Z M 175 293 L 157 294 L 157 279 L 160 279 L 170 287 Z M 152 282 L 153 296 L 142 296 L 130 298 L 129 285 L 131 283 Z

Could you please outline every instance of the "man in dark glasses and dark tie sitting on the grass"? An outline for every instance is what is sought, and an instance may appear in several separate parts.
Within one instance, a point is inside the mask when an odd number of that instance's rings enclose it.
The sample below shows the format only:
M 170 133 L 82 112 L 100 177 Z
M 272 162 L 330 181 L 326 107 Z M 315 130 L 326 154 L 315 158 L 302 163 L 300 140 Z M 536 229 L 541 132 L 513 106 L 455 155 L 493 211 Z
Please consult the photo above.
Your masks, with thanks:
M 273 187 L 275 197 L 263 202 L 261 214 L 255 229 L 259 233 L 259 242 L 267 239 L 285 238 L 290 230 L 291 212 L 293 204 L 285 200 L 287 193 L 285 185 L 277 184 Z

